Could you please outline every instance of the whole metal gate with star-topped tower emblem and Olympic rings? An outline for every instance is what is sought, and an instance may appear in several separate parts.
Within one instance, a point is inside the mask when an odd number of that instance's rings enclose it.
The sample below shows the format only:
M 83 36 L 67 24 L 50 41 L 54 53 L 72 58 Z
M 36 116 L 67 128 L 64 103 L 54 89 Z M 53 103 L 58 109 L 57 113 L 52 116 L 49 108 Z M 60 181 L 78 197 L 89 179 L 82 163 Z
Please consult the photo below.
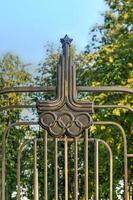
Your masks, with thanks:
M 75 68 L 70 54 L 71 42 L 72 40 L 68 36 L 61 39 L 63 53 L 60 56 L 58 65 L 57 86 L 5 88 L 0 91 L 0 95 L 56 91 L 56 99 L 53 101 L 42 100 L 36 102 L 36 105 L 7 105 L 0 108 L 1 112 L 15 108 L 36 108 L 38 112 L 37 121 L 21 121 L 9 124 L 2 134 L 0 146 L 0 199 L 2 200 L 8 200 L 8 195 L 6 194 L 6 177 L 8 174 L 6 170 L 8 164 L 6 161 L 6 143 L 8 142 L 9 134 L 11 134 L 11 129 L 21 126 L 39 126 L 43 136 L 26 139 L 18 148 L 16 164 L 17 183 L 16 191 L 14 191 L 17 200 L 27 199 L 25 194 L 28 189 L 24 191 L 21 185 L 21 162 L 23 152 L 29 145 L 33 155 L 32 199 L 114 200 L 116 188 L 114 188 L 113 145 L 110 146 L 108 140 L 104 141 L 98 136 L 92 137 L 91 131 L 93 126 L 104 127 L 105 134 L 107 127 L 115 127 L 117 129 L 117 135 L 120 135 L 120 144 L 123 149 L 121 155 L 123 158 L 121 165 L 123 167 L 123 174 L 121 175 L 120 184 L 122 186 L 120 187 L 123 188 L 124 200 L 133 199 L 128 180 L 128 159 L 132 159 L 133 154 L 128 153 L 125 131 L 122 125 L 117 122 L 95 121 L 93 119 L 94 113 L 103 109 L 118 108 L 128 110 L 131 113 L 133 109 L 128 105 L 95 105 L 93 102 L 77 99 L 77 92 L 79 91 L 90 92 L 91 94 L 112 92 L 132 95 L 133 89 L 120 86 L 76 86 Z M 108 139 L 108 136 L 106 138 Z M 43 149 L 42 160 L 38 159 L 38 148 Z M 100 153 L 101 148 L 102 154 Z M 106 156 L 106 159 L 102 160 L 101 155 Z M 117 159 L 119 158 L 115 156 L 115 160 Z M 43 163 L 42 171 L 38 169 L 40 162 Z M 39 183 L 39 173 L 43 177 L 42 186 Z M 25 176 L 26 178 L 28 177 L 26 170 Z M 53 177 L 52 179 L 51 176 Z M 119 190 L 119 187 L 117 189 Z M 42 190 L 43 194 L 41 196 Z M 104 190 L 107 191 L 105 196 L 102 195 Z

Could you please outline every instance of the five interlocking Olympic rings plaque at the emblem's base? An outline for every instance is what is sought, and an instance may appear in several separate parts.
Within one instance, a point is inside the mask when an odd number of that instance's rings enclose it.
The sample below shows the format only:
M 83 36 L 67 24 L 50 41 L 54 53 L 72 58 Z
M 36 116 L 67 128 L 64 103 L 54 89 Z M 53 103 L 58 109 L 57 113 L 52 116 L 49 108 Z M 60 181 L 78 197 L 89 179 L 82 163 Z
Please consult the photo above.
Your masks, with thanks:
M 65 133 L 75 137 L 92 125 L 92 118 L 86 112 L 45 112 L 40 115 L 40 125 L 56 137 Z

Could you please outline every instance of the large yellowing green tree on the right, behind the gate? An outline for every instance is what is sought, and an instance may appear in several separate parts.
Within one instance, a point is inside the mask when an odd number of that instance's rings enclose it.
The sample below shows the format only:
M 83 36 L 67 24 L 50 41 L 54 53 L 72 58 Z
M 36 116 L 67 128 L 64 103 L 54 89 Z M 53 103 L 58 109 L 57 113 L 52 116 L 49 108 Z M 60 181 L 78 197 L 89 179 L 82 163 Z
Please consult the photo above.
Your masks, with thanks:
M 77 79 L 83 80 L 85 85 L 133 87 L 133 4 L 130 0 L 106 0 L 106 3 L 108 11 L 104 14 L 104 23 L 92 29 L 91 41 L 87 45 L 86 51 L 79 55 L 80 66 L 84 67 L 84 71 L 80 73 Z M 131 95 L 101 93 L 95 96 L 89 95 L 87 99 L 94 101 L 95 104 L 133 105 Z M 128 152 L 132 152 L 133 124 L 131 112 L 123 109 L 113 109 L 110 111 L 103 109 L 95 114 L 94 119 L 119 122 L 124 127 L 128 138 Z M 100 138 L 107 140 L 112 146 L 111 137 L 106 138 L 104 136 L 105 131 L 107 133 L 111 132 L 110 129 L 105 129 L 103 126 L 101 128 L 93 127 L 92 129 L 94 137 L 99 135 Z M 112 131 L 116 133 L 115 129 Z M 116 157 L 116 154 L 120 157 L 118 168 L 118 163 L 114 160 L 114 187 L 116 188 L 119 185 L 123 172 L 121 172 L 120 176 L 118 175 L 122 169 L 120 138 L 115 138 L 114 142 L 116 143 L 114 157 Z M 132 185 L 133 177 L 131 177 L 131 174 L 133 173 L 133 164 L 131 160 L 129 160 L 129 165 L 129 178 Z M 122 190 L 120 186 L 119 189 Z M 121 191 L 119 191 L 120 193 Z M 114 199 L 117 198 L 115 195 Z

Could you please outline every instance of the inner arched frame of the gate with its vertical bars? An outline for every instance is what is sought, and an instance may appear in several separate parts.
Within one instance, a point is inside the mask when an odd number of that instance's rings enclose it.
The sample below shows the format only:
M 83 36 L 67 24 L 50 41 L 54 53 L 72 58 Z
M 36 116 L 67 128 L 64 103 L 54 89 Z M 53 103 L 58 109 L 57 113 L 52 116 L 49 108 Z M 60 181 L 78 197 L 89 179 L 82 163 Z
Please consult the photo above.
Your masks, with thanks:
M 109 163 L 110 163 L 110 170 L 109 170 L 109 183 L 110 183 L 110 194 L 109 194 L 109 199 L 112 200 L 113 198 L 113 157 L 112 157 L 112 151 L 109 147 L 109 145 L 103 141 L 103 140 L 100 140 L 100 139 L 94 139 L 94 138 L 88 138 L 88 134 L 87 134 L 87 130 L 86 130 L 86 134 L 85 134 L 85 140 L 87 143 L 94 143 L 95 144 L 95 199 L 98 200 L 99 199 L 99 171 L 98 171 L 98 168 L 99 168 L 99 164 L 98 164 L 98 145 L 103 144 L 106 148 L 106 150 L 108 151 L 109 153 Z M 47 136 L 47 134 L 46 134 Z M 49 139 L 45 138 L 45 140 L 49 141 Z M 76 162 L 76 164 L 74 164 L 74 177 L 76 178 L 76 180 L 78 180 L 78 142 L 80 140 L 83 141 L 83 139 L 81 138 L 76 138 L 76 139 L 67 139 L 66 141 L 66 138 L 58 138 L 58 139 L 55 139 L 55 149 L 56 149 L 56 154 L 55 154 L 55 162 L 57 164 L 58 162 L 58 150 L 57 150 L 57 141 L 58 140 L 58 143 L 61 141 L 64 142 L 64 145 L 66 146 L 65 148 L 65 155 L 64 155 L 64 159 L 65 159 L 65 199 L 68 200 L 68 194 L 69 194 L 69 190 L 68 190 L 68 158 L 66 160 L 66 153 L 67 153 L 67 145 L 68 145 L 68 142 L 71 142 L 73 141 L 74 144 L 75 144 L 75 153 L 74 153 L 74 157 L 76 159 L 76 161 L 74 161 L 74 163 Z M 76 140 L 76 143 L 75 143 L 75 140 Z M 24 151 L 25 147 L 29 144 L 33 142 L 33 147 L 34 147 L 34 199 L 35 200 L 38 200 L 38 194 L 39 194 L 39 190 L 38 190 L 38 169 L 37 169 L 37 142 L 43 142 L 43 139 L 30 139 L 30 140 L 26 140 L 23 144 L 21 144 L 21 146 L 19 147 L 19 151 L 18 151 L 18 164 L 17 164 L 17 199 L 20 200 L 21 199 L 21 184 L 20 184 L 20 176 L 21 176 L 21 154 L 22 152 Z M 45 145 L 47 146 L 47 143 L 45 141 Z M 46 147 L 44 145 L 44 148 L 46 150 Z M 56 146 L 57 145 L 57 146 Z M 88 145 L 85 147 L 87 148 Z M 88 149 L 87 151 L 85 151 L 85 159 L 87 158 L 87 155 L 88 155 Z M 46 158 L 46 157 L 45 157 Z M 74 159 L 74 160 L 75 160 Z M 44 162 L 46 162 L 46 160 L 44 160 Z M 87 159 L 87 162 L 88 162 L 88 159 Z M 84 166 L 84 170 L 85 170 L 85 173 L 88 171 L 88 163 L 85 161 L 85 166 Z M 44 164 L 45 165 L 45 164 Z M 47 166 L 47 165 L 46 165 Z M 58 165 L 55 165 L 54 167 L 54 170 L 55 170 L 55 181 L 56 181 L 56 184 L 55 184 L 55 190 L 54 190 L 54 196 L 55 196 L 55 199 L 58 199 Z M 86 173 L 87 175 L 88 173 Z M 44 190 L 44 199 L 46 200 L 47 199 L 47 194 L 48 194 L 48 187 L 46 187 L 46 185 L 48 184 L 48 179 L 47 179 L 47 173 L 46 171 L 44 171 L 44 187 L 45 187 L 45 190 Z M 85 183 L 87 184 L 88 183 L 88 176 L 85 175 Z M 75 180 L 75 179 L 74 179 Z M 78 199 L 78 181 L 74 181 L 74 199 Z M 67 184 L 67 187 L 66 187 L 66 184 Z M 85 199 L 88 200 L 88 191 L 87 191 L 87 188 L 88 187 L 85 187 Z

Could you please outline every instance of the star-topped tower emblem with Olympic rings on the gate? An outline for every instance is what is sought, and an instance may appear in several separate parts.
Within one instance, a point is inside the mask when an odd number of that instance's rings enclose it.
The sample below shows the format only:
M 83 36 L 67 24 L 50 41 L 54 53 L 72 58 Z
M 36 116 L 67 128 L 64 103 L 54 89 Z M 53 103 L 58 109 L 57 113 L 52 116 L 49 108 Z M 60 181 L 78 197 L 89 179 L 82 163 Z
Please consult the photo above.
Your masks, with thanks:
M 58 64 L 57 98 L 37 102 L 39 123 L 56 137 L 64 134 L 75 137 L 92 125 L 93 103 L 76 99 L 76 73 L 70 54 L 72 39 L 66 35 L 60 41 L 63 54 Z

